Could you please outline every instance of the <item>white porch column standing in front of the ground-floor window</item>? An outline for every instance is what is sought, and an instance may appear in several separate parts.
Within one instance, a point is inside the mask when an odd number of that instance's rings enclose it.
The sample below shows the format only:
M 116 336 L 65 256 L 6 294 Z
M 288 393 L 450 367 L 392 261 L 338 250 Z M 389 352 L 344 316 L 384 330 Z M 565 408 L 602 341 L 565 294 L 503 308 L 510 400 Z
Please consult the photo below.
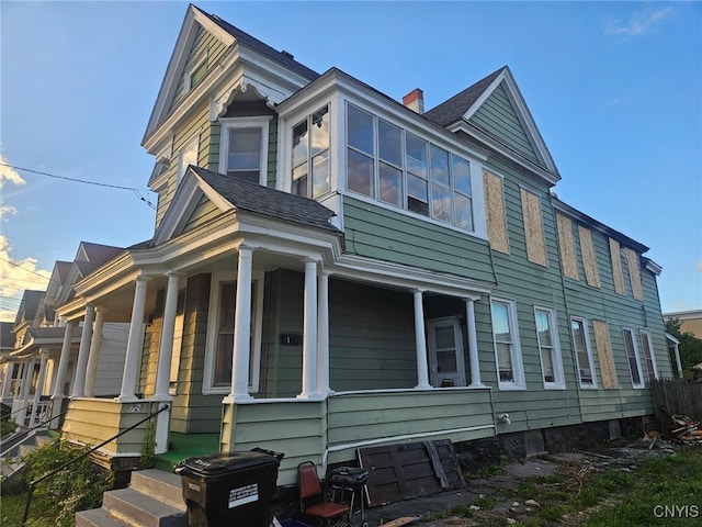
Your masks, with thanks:
M 231 392 L 224 399 L 225 404 L 250 401 L 249 361 L 251 343 L 251 269 L 253 249 L 239 246 L 237 269 L 237 298 L 234 321 L 234 351 L 231 354 Z

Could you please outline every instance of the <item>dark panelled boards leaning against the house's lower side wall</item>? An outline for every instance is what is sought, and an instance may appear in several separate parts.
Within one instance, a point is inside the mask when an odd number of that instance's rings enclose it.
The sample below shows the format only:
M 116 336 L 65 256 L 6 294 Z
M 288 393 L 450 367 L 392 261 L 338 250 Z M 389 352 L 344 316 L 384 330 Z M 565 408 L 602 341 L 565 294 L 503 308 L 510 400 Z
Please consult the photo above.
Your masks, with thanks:
M 359 459 L 369 471 L 366 489 L 372 507 L 465 485 L 449 439 L 363 448 Z

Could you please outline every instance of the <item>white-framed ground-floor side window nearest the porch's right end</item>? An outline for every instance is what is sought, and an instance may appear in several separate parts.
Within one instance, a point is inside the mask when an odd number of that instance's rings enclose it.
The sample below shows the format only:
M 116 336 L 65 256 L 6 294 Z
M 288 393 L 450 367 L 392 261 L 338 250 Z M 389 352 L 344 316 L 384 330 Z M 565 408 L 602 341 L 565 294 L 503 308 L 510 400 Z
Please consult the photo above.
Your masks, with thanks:
M 526 388 L 517 328 L 517 304 L 491 299 L 492 338 L 497 361 L 497 380 L 501 390 Z

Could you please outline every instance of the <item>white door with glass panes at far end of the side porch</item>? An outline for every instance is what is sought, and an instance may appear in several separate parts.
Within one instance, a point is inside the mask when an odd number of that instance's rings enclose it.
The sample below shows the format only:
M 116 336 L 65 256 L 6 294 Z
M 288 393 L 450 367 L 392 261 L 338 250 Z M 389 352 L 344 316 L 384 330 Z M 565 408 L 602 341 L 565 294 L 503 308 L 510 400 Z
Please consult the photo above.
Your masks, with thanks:
M 458 318 L 435 318 L 427 322 L 429 370 L 431 385 L 465 386 L 463 333 Z

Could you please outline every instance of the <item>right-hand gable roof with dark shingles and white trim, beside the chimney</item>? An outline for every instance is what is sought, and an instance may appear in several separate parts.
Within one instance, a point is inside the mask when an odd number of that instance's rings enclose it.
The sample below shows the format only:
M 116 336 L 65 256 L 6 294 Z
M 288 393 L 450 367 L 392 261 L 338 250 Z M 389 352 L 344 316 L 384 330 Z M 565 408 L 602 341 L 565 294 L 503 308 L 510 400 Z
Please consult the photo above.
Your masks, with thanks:
M 500 136 L 499 133 L 480 124 L 478 119 L 473 119 L 474 116 L 477 117 L 486 102 L 498 92 L 502 97 L 507 97 L 507 102 L 511 106 L 510 112 L 513 112 L 512 115 L 516 120 L 514 125 L 520 128 L 519 133 L 523 134 L 523 142 L 528 144 L 529 156 L 525 155 L 523 149 L 520 152 L 520 148 L 511 144 L 506 136 Z M 535 172 L 551 184 L 555 184 L 561 179 L 546 143 L 541 136 L 508 66 L 501 67 L 432 108 L 424 115 L 452 132 L 462 132 L 464 136 L 491 147 L 507 158 Z M 533 158 L 530 158 L 532 157 L 532 152 Z

